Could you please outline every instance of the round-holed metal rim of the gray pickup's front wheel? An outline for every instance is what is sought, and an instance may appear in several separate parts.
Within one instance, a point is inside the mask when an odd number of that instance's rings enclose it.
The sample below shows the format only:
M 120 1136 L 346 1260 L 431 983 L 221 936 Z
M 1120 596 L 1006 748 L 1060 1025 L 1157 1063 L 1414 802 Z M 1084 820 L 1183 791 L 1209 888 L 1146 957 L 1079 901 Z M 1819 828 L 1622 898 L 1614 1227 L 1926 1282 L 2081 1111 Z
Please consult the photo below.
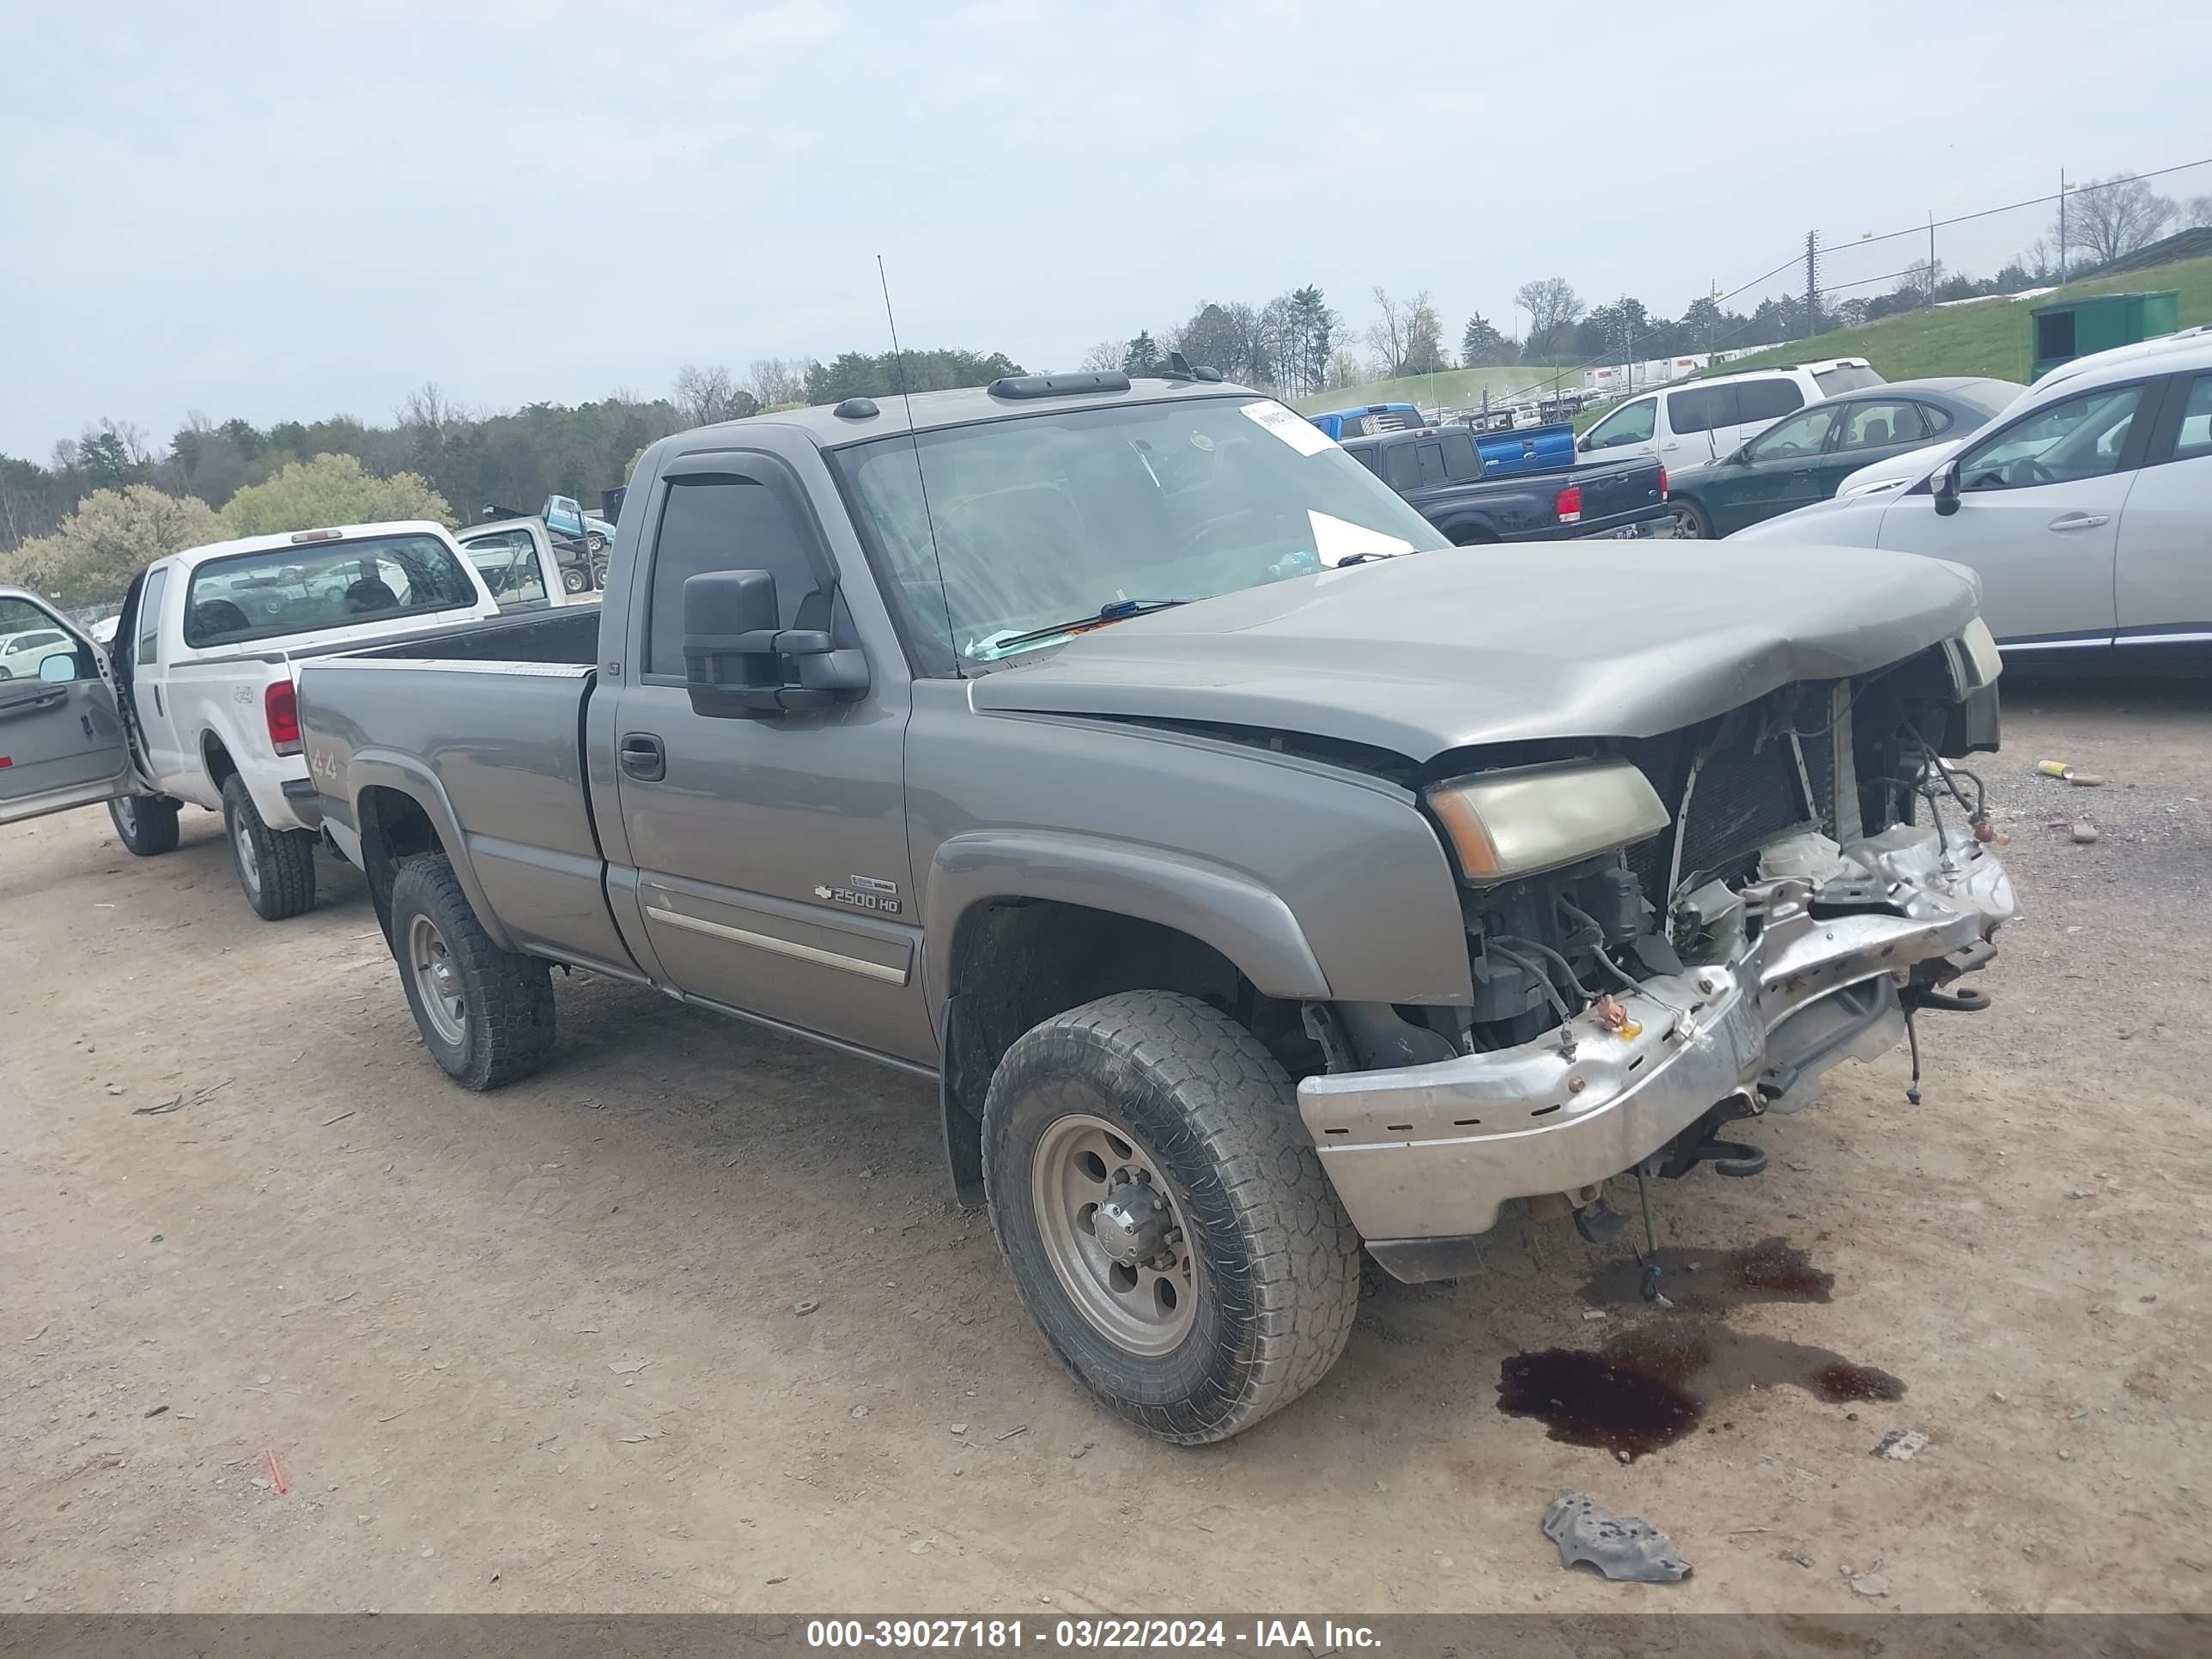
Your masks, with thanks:
M 1053 1274 L 1093 1329 L 1130 1354 L 1166 1354 L 1190 1334 L 1194 1239 L 1146 1148 L 1073 1113 L 1037 1141 L 1029 1190 Z

